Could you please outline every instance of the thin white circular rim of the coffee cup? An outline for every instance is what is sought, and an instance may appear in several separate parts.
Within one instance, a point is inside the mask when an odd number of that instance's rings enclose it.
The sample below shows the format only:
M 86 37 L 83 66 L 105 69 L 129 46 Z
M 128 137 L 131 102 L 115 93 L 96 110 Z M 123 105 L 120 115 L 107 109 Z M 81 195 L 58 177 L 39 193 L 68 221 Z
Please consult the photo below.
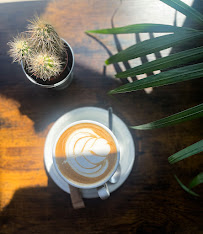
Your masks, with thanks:
M 80 184 L 77 184 L 77 183 L 74 183 L 72 181 L 70 181 L 69 179 L 67 179 L 62 173 L 61 171 L 59 170 L 58 166 L 57 166 L 57 163 L 56 163 L 56 160 L 55 160 L 55 149 L 56 149 L 56 144 L 60 138 L 60 136 L 63 134 L 63 132 L 65 132 L 68 128 L 72 127 L 72 126 L 75 126 L 77 124 L 81 124 L 81 123 L 92 123 L 92 124 L 95 124 L 95 125 L 98 125 L 102 128 L 104 128 L 110 135 L 111 137 L 113 138 L 114 140 L 114 143 L 116 145 L 116 149 L 117 149 L 117 161 L 114 165 L 114 169 L 111 171 L 111 173 L 109 174 L 109 176 L 102 180 L 102 181 L 99 181 L 98 183 L 94 183 L 94 184 L 90 184 L 90 185 L 80 185 Z M 82 188 L 82 189 L 92 189 L 92 188 L 98 188 L 100 186 L 102 186 L 103 184 L 105 184 L 111 177 L 112 175 L 115 173 L 115 171 L 117 170 L 117 167 L 119 165 L 119 162 L 120 162 L 120 147 L 119 147 L 119 144 L 118 144 L 118 140 L 116 138 L 116 136 L 114 135 L 114 133 L 108 128 L 106 127 L 104 124 L 101 124 L 100 122 L 97 122 L 97 121 L 94 121 L 94 120 L 79 120 L 79 121 L 75 121 L 71 124 L 68 124 L 65 128 L 63 128 L 60 133 L 58 134 L 57 138 L 56 138 L 56 141 L 54 142 L 54 145 L 53 145 L 53 148 L 52 148 L 52 158 L 53 158 L 53 163 L 54 163 L 54 166 L 58 172 L 58 174 L 61 176 L 61 178 L 66 181 L 68 184 L 74 186 L 74 187 L 77 187 L 77 188 Z

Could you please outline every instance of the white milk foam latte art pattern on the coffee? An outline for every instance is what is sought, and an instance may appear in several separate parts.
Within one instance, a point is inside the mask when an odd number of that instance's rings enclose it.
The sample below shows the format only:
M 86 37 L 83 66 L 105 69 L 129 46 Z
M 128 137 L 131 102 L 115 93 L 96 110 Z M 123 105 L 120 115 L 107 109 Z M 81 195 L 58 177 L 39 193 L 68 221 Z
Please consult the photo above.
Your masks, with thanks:
M 74 131 L 67 139 L 65 152 L 67 162 L 80 175 L 97 177 L 108 167 L 106 158 L 110 153 L 110 145 L 92 129 Z

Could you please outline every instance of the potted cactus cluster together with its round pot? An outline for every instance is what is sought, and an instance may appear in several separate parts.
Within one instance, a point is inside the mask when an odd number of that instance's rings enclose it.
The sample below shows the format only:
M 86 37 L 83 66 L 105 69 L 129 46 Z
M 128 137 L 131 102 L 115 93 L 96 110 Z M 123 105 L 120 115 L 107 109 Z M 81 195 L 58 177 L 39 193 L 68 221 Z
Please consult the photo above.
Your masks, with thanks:
M 21 64 L 26 77 L 44 88 L 67 87 L 73 78 L 74 54 L 70 45 L 59 37 L 54 27 L 35 17 L 10 41 L 9 54 Z

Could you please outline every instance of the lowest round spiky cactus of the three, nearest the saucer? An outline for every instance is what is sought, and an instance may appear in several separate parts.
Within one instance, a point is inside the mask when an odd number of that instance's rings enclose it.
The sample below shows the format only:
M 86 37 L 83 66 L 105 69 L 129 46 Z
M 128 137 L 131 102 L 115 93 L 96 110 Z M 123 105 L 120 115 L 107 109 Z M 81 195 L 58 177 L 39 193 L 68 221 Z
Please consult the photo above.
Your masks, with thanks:
M 44 81 L 50 80 L 52 76 L 58 75 L 62 69 L 62 63 L 58 57 L 46 53 L 33 54 L 28 67 L 28 70 L 33 75 Z

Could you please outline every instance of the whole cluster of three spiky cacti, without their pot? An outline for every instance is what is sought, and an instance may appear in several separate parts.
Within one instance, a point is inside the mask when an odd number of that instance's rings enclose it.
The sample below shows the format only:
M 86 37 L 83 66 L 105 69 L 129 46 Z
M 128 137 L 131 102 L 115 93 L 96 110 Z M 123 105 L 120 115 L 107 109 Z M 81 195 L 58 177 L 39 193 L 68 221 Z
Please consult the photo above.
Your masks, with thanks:
M 28 31 L 9 42 L 9 54 L 14 62 L 23 60 L 27 70 L 44 81 L 57 76 L 65 65 L 63 41 L 51 24 L 38 16 L 30 21 Z

